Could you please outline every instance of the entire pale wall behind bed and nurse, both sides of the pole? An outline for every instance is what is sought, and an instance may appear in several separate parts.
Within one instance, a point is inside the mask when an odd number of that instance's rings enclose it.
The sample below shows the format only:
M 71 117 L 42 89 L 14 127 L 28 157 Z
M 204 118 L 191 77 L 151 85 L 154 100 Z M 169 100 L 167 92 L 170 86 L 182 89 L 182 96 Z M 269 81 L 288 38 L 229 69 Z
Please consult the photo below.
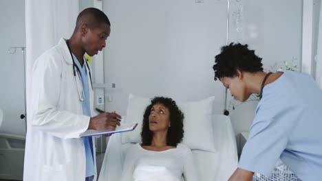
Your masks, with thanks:
M 302 1 L 239 2 L 244 12 L 241 43 L 256 50 L 264 67 L 276 62 L 281 66 L 285 60 L 300 65 Z M 113 98 L 107 110 L 125 114 L 129 93 L 176 100 L 215 95 L 215 112 L 222 114 L 224 87 L 213 81 L 212 65 L 226 44 L 226 9 L 226 1 L 104 1 L 111 20 L 105 80 L 116 83 L 114 90 L 107 90 Z M 256 104 L 230 111 L 236 134 L 248 132 Z

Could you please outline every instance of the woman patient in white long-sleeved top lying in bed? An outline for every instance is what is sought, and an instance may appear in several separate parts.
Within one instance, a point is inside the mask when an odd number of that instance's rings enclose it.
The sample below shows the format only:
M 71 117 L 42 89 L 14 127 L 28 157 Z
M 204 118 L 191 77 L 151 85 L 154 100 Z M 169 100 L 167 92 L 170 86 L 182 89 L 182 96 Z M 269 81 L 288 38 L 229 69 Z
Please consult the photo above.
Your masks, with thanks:
M 184 136 L 184 114 L 171 98 L 154 97 L 147 106 L 142 125 L 142 145 L 127 150 L 123 181 L 197 180 L 191 150 L 180 142 Z

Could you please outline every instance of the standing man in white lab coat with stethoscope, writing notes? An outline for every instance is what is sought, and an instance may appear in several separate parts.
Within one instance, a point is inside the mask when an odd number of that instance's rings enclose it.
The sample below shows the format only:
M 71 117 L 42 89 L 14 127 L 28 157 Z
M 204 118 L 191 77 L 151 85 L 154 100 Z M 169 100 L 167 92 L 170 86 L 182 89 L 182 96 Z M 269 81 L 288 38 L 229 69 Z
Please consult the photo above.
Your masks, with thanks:
M 93 116 L 92 75 L 83 56 L 105 47 L 110 25 L 102 11 L 87 8 L 78 15 L 72 37 L 34 62 L 24 181 L 96 180 L 94 140 L 80 134 L 115 130 L 120 116 Z

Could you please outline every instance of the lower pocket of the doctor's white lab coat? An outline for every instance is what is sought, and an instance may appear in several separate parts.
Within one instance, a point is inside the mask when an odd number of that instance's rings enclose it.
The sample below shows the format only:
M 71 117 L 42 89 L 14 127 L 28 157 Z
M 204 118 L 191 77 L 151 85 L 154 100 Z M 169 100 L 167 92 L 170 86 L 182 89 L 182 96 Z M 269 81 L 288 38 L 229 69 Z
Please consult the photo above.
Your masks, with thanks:
M 71 163 L 67 162 L 62 165 L 43 165 L 41 178 L 41 180 L 47 181 L 71 181 L 73 180 Z

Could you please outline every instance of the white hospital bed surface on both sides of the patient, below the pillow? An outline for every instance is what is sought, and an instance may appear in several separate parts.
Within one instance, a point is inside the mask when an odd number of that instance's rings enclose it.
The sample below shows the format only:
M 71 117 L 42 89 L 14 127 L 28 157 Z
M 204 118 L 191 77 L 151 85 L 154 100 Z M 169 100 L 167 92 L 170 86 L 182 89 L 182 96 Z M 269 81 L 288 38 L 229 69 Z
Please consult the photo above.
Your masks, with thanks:
M 229 117 L 213 114 L 212 123 L 217 152 L 192 150 L 195 168 L 200 176 L 198 181 L 228 180 L 237 168 L 237 146 Z M 202 131 L 199 130 L 199 132 Z M 198 136 L 198 131 L 193 134 Z M 122 133 L 113 134 L 109 138 L 98 181 L 120 180 L 125 152 L 129 146 L 135 144 L 123 144 L 121 136 Z

